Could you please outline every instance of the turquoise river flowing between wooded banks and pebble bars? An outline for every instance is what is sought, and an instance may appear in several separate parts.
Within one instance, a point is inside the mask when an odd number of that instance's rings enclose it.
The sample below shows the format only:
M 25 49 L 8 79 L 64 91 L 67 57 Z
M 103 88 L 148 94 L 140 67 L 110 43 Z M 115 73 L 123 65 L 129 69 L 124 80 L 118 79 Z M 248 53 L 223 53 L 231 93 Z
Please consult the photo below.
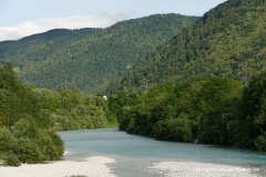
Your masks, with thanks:
M 259 169 L 266 176 L 266 155 L 252 150 L 212 145 L 162 142 L 129 135 L 117 128 L 88 129 L 59 133 L 64 140 L 64 159 L 82 160 L 90 156 L 108 156 L 117 163 L 110 164 L 116 176 L 155 177 L 147 166 L 160 160 L 190 160 L 234 165 Z

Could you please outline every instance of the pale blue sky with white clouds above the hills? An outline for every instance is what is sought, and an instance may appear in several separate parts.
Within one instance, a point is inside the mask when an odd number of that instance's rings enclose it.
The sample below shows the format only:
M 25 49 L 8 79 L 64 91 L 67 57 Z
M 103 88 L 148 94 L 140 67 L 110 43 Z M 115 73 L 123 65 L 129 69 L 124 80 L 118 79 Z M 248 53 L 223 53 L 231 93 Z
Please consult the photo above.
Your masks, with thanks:
M 203 15 L 226 0 L 0 0 L 0 41 L 51 29 L 106 28 L 156 13 Z

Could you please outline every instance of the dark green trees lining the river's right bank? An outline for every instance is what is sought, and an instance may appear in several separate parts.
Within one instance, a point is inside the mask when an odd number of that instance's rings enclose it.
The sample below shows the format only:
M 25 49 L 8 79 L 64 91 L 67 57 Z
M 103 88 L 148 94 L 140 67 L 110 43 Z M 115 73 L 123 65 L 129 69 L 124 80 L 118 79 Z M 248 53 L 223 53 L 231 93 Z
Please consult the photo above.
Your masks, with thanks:
M 266 152 L 265 94 L 266 72 L 248 86 L 217 76 L 168 81 L 140 95 L 122 92 L 109 106 L 130 134 Z

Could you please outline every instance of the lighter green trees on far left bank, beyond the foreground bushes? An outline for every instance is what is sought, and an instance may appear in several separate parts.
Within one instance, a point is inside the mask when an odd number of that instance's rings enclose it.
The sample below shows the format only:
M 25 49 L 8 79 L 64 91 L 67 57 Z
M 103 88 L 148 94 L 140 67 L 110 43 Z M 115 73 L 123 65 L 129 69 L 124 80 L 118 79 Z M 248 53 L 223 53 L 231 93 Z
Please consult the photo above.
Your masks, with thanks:
M 58 92 L 34 88 L 40 117 L 47 128 L 53 131 L 102 128 L 116 125 L 108 114 L 108 103 L 102 96 L 90 96 L 76 90 Z

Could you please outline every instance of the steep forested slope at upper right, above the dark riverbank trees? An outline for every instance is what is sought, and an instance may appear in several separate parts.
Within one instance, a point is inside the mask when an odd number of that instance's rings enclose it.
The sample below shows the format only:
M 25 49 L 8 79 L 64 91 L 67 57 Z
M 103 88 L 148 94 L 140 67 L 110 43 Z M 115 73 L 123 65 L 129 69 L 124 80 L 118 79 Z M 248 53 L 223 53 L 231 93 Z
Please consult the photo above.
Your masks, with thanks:
M 228 0 L 150 53 L 108 92 L 142 92 L 164 80 L 212 75 L 248 84 L 266 69 L 265 29 L 265 0 Z

